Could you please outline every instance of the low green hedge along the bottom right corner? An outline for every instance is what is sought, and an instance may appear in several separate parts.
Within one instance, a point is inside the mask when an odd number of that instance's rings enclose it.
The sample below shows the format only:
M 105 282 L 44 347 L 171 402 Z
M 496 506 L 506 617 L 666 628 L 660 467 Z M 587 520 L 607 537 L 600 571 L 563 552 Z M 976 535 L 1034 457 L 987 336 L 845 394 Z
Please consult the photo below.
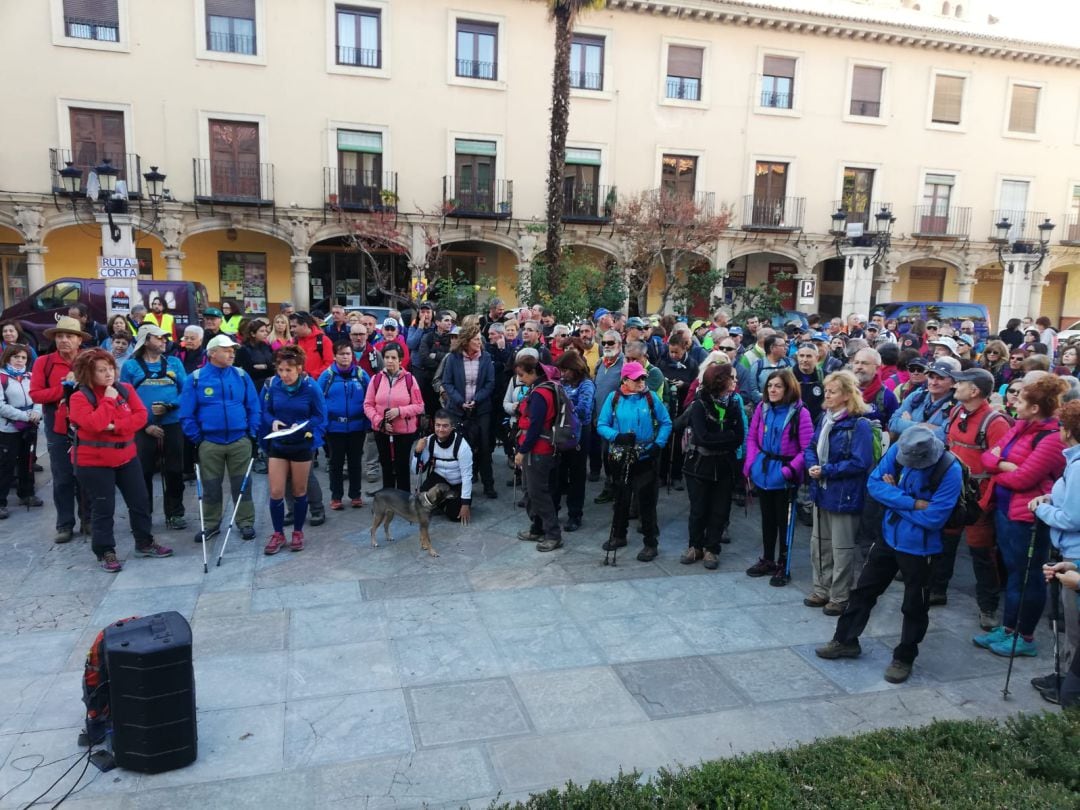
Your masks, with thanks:
M 492 804 L 492 808 L 510 805 Z M 642 784 L 638 774 L 537 794 L 528 810 L 1080 808 L 1080 711 L 937 721 L 751 754 Z

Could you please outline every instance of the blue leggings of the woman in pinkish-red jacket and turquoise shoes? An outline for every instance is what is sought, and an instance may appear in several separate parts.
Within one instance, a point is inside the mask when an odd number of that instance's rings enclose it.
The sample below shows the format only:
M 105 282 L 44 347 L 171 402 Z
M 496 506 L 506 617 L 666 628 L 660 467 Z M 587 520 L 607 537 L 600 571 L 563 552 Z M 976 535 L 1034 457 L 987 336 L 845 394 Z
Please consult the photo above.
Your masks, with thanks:
M 1030 559 L 1027 548 L 1031 542 L 1031 529 L 1036 528 L 1035 549 Z M 994 511 L 994 529 L 998 550 L 1005 564 L 1005 607 L 1001 623 L 1020 630 L 1022 636 L 1035 634 L 1035 627 L 1047 604 L 1047 583 L 1042 579 L 1042 565 L 1050 558 L 1050 529 L 1043 523 L 1017 523 L 1010 521 L 1000 509 Z M 1024 588 L 1024 571 L 1027 569 L 1027 588 Z M 1021 604 L 1021 591 L 1024 602 Z M 1017 625 L 1017 621 L 1020 622 Z

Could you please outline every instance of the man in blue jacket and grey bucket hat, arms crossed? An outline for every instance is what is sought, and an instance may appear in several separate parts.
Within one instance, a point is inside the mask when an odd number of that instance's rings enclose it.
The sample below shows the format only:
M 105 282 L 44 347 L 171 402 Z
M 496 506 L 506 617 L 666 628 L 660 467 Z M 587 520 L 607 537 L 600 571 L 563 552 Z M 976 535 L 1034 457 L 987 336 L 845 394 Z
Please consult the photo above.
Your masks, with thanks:
M 859 584 L 836 623 L 833 640 L 814 650 L 819 658 L 859 658 L 859 636 L 878 596 L 899 570 L 904 575 L 904 624 L 885 679 L 902 684 L 912 674 L 919 643 L 930 624 L 930 570 L 942 553 L 942 529 L 960 498 L 963 483 L 959 462 L 951 456 L 943 460 L 944 454 L 945 445 L 933 430 L 915 424 L 901 434 L 870 473 L 869 495 L 885 505 L 885 543 L 870 546 Z M 930 482 L 940 461 L 948 463 L 948 468 L 941 484 L 932 489 Z

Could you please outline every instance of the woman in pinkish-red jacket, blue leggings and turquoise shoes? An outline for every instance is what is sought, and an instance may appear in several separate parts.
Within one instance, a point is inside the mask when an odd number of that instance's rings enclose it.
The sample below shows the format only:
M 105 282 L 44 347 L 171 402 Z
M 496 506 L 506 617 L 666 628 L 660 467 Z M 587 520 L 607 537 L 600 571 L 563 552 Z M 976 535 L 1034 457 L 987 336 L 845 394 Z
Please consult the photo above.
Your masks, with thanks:
M 991 477 L 982 504 L 988 509 L 990 501 L 994 502 L 994 529 L 1008 580 L 1001 624 L 974 636 L 972 642 L 998 656 L 1011 654 L 1016 632 L 1020 633 L 1015 639 L 1016 654 L 1038 654 L 1035 627 L 1047 603 L 1042 564 L 1050 555 L 1050 530 L 1036 521 L 1028 503 L 1032 498 L 1049 495 L 1065 471 L 1062 455 L 1065 448 L 1054 415 L 1067 390 L 1068 383 L 1054 376 L 1025 386 L 1016 405 L 1016 423 L 983 454 L 983 465 Z M 1035 549 L 1029 555 L 1030 543 Z

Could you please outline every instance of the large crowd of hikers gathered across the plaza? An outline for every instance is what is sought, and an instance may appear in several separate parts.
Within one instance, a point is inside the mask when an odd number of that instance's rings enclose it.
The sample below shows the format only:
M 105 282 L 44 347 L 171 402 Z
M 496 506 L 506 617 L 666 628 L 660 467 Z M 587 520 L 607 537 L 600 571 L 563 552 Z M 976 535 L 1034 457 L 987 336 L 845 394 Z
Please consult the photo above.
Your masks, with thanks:
M 707 320 L 597 309 L 559 324 L 541 306 L 494 299 L 461 318 L 420 303 L 406 323 L 337 306 L 248 318 L 222 301 L 179 328 L 161 309 L 105 328 L 73 307 L 40 354 L 18 324 L 0 324 L 0 519 L 12 488 L 19 505 L 42 505 L 42 433 L 54 540 L 71 541 L 78 518 L 108 572 L 123 566 L 117 491 L 134 553 L 172 555 L 154 535 L 159 473 L 159 528 L 188 528 L 194 481 L 204 544 L 222 526 L 255 538 L 249 481 L 266 474 L 266 554 L 302 551 L 306 523 L 324 523 L 327 508 L 363 508 L 365 480 L 405 491 L 422 481 L 420 495 L 446 485 L 434 511 L 468 525 L 476 490 L 500 498 L 504 465 L 529 521 L 517 537 L 538 552 L 588 521 L 617 557 L 636 522 L 648 563 L 667 488 L 688 498 L 679 562 L 717 569 L 732 505 L 756 500 L 750 577 L 786 586 L 795 524 L 812 527 L 804 604 L 837 617 L 822 658 L 861 653 L 899 579 L 903 630 L 885 677 L 905 680 L 964 542 L 973 644 L 1037 656 L 1049 602 L 1068 673 L 1032 686 L 1080 701 L 1080 343 L 1058 340 L 1049 319 L 998 335 L 881 311 L 774 324 L 725 308 Z M 600 481 L 586 510 L 586 482 Z

